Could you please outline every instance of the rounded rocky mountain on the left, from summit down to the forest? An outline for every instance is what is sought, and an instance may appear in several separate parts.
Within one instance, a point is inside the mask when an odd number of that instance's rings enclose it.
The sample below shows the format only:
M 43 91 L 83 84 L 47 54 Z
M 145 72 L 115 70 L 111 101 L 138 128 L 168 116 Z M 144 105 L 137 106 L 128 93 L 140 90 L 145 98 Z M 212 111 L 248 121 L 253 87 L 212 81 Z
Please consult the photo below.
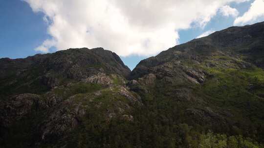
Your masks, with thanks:
M 0 65 L 1 147 L 63 147 L 77 127 L 130 121 L 132 106 L 141 104 L 125 85 L 129 68 L 102 48 L 3 58 Z

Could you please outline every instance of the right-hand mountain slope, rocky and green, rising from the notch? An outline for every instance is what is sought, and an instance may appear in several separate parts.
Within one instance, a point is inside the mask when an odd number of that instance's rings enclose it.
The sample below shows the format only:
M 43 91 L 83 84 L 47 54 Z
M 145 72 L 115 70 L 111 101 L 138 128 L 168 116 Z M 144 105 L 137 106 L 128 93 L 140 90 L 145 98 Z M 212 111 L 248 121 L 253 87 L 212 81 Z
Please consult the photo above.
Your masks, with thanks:
M 142 60 L 129 86 L 175 122 L 261 140 L 263 68 L 261 22 L 230 27 Z M 176 113 L 168 113 L 174 108 Z

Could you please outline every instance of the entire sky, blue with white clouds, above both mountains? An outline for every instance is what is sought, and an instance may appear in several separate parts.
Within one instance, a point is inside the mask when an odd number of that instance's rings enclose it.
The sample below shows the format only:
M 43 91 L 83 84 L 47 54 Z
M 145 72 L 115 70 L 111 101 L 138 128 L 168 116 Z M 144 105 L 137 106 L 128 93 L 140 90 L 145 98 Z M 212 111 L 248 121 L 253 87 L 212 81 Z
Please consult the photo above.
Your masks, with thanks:
M 264 21 L 264 0 L 1 0 L 0 58 L 103 47 L 142 59 L 230 26 Z

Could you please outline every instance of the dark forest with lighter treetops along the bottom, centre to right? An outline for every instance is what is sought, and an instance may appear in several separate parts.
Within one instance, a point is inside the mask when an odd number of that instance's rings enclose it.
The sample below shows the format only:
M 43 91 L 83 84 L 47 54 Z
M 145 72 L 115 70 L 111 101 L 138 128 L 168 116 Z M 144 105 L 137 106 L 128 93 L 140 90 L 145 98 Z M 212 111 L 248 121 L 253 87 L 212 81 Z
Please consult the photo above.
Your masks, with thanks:
M 158 121 L 153 112 L 147 116 L 140 112 L 143 115 L 133 122 L 121 116 L 106 121 L 96 110 L 88 112 L 82 126 L 72 133 L 68 148 L 264 148 L 242 135 L 201 132 L 187 124 Z

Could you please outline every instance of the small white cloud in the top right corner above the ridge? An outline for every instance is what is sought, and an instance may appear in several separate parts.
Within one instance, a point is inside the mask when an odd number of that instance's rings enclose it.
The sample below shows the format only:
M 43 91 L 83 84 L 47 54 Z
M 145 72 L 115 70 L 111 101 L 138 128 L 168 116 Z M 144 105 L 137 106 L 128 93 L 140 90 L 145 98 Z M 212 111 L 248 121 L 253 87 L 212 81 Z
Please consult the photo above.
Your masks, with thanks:
M 235 19 L 234 25 L 252 24 L 260 20 L 264 20 L 264 0 L 255 0 L 243 16 Z

